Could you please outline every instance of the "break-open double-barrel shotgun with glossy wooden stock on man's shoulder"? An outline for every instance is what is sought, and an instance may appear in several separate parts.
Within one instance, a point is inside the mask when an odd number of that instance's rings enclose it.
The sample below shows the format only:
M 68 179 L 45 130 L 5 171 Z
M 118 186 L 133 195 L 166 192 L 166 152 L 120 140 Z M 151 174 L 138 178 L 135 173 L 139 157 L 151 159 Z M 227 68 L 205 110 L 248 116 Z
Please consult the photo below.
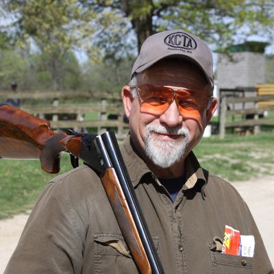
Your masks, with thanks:
M 0 158 L 39 159 L 43 171 L 58 173 L 62 151 L 70 153 L 74 167 L 82 159 L 100 176 L 140 273 L 164 273 L 114 132 L 55 133 L 48 121 L 0 104 Z

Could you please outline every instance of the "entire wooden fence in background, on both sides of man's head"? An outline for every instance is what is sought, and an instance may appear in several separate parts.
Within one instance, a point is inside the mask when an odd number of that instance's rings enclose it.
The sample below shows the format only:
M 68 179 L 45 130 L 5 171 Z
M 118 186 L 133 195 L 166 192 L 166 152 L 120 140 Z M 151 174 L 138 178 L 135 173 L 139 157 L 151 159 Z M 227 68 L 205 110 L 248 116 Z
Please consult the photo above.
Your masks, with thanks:
M 274 85 L 269 85 L 274 87 Z M 259 85 L 262 93 L 270 92 L 269 86 Z M 269 94 L 269 93 L 266 93 Z M 270 93 L 271 94 L 271 93 Z M 119 94 L 100 94 L 90 92 L 0 92 L 0 102 L 5 99 L 21 99 L 21 109 L 47 119 L 51 129 L 74 129 L 86 132 L 95 128 L 98 134 L 107 129 L 116 130 L 117 138 L 122 140 L 128 132 L 128 124 L 124 119 L 123 104 Z M 253 108 L 232 110 L 228 106 L 235 103 L 253 103 Z M 256 133 L 260 125 L 274 125 L 274 118 L 262 117 L 266 111 L 274 110 L 274 92 L 271 95 L 256 97 L 221 97 L 219 115 L 219 136 L 225 137 L 225 129 L 253 127 Z M 97 113 L 96 119 L 89 119 L 88 114 Z M 238 119 L 238 117 L 241 119 Z M 230 119 L 229 119 L 230 117 Z M 237 117 L 237 119 L 234 119 Z M 247 119 L 249 118 L 249 119 Z

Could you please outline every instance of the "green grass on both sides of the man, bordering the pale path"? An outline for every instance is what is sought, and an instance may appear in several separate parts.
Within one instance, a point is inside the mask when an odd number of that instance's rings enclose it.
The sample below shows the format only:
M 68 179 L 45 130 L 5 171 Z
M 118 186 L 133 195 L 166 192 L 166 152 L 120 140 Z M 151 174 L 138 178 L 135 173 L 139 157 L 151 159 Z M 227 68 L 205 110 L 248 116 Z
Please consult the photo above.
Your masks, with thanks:
M 195 148 L 201 165 L 229 181 L 274 174 L 274 134 L 203 138 Z M 62 155 L 60 173 L 69 171 L 69 155 Z M 55 175 L 35 160 L 0 160 L 0 219 L 32 209 L 42 188 Z

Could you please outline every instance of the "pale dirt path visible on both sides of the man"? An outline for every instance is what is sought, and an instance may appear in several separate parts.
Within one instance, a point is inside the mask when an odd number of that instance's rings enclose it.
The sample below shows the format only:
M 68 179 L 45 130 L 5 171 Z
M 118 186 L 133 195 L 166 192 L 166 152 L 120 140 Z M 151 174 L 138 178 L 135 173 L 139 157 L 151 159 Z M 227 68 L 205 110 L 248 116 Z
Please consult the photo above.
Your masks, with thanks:
M 247 202 L 262 234 L 269 258 L 274 265 L 274 176 L 264 177 L 249 182 L 234 182 L 233 185 Z M 27 221 L 27 215 L 14 216 L 0 221 L 0 273 L 21 236 Z

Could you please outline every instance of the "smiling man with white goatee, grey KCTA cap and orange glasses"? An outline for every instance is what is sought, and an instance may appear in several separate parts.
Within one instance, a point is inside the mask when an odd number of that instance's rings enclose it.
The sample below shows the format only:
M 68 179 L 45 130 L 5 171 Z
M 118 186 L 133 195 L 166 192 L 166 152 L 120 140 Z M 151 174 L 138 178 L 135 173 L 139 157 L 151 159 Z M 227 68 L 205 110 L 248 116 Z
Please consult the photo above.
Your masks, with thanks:
M 216 109 L 212 54 L 177 29 L 149 37 L 123 87 L 121 147 L 165 273 L 273 273 L 247 205 L 192 153 Z M 253 235 L 253 257 L 222 253 L 225 226 Z M 12 273 L 138 273 L 99 177 L 80 166 L 39 197 Z

